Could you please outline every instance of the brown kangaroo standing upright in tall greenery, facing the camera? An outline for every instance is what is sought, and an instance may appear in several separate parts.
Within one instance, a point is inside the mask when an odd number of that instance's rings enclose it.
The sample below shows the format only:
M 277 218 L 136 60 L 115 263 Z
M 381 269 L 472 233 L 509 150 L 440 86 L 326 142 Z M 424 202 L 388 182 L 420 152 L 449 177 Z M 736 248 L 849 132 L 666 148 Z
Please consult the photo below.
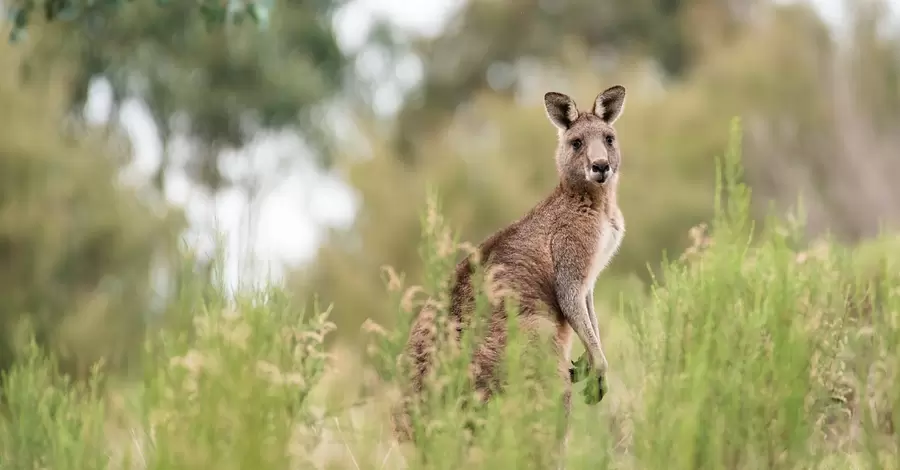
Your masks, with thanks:
M 555 152 L 559 183 L 522 218 L 497 231 L 477 248 L 476 255 L 495 285 L 512 292 L 519 307 L 523 332 L 550 327 L 564 384 L 564 411 L 571 413 L 574 363 L 573 332 L 584 345 L 588 367 L 599 393 L 606 393 L 606 355 L 594 312 L 593 288 L 600 272 L 618 251 L 625 222 L 616 202 L 622 152 L 613 123 L 622 114 L 625 88 L 616 85 L 600 93 L 590 112 L 581 112 L 569 96 L 544 95 L 547 117 L 556 127 Z M 450 290 L 449 320 L 459 341 L 474 308 L 471 285 L 473 257 L 457 264 Z M 398 441 L 412 440 L 409 402 L 424 386 L 435 343 L 435 312 L 422 309 L 410 330 L 403 359 L 411 367 L 411 390 L 392 412 Z M 506 343 L 506 310 L 492 306 L 486 332 L 473 355 L 476 392 L 488 400 L 501 389 L 497 366 Z M 567 425 L 563 425 L 567 428 Z M 563 431 L 564 432 L 564 431 Z M 565 440 L 565 439 L 564 439 Z

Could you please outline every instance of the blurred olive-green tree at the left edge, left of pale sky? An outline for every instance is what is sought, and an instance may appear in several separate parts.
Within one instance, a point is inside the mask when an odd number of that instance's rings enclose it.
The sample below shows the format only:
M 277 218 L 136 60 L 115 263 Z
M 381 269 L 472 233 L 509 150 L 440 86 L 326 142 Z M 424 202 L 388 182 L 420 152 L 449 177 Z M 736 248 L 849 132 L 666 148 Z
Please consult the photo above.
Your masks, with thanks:
M 67 372 L 84 376 L 100 358 L 120 367 L 139 352 L 151 268 L 182 222 L 120 183 L 123 152 L 107 139 L 61 132 L 69 71 L 22 86 L 22 54 L 0 45 L 0 371 L 23 320 Z

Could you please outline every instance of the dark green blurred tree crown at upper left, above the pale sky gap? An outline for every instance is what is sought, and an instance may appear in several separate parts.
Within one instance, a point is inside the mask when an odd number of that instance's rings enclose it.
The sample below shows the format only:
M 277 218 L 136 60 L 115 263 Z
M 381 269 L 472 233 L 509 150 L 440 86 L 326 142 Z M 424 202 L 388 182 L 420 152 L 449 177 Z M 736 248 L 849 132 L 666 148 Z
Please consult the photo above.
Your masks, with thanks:
M 164 8 L 133 2 L 113 12 L 97 2 L 72 21 L 40 25 L 25 72 L 40 73 L 48 58 L 71 60 L 70 106 L 79 114 L 92 80 L 108 79 L 112 126 L 124 101 L 140 98 L 163 143 L 155 186 L 164 190 L 171 144 L 184 137 L 192 147 L 188 174 L 217 190 L 240 183 L 223 173 L 222 151 L 242 148 L 260 131 L 302 130 L 314 154 L 327 155 L 320 105 L 344 82 L 349 59 L 337 45 L 332 15 L 345 1 L 279 2 L 264 30 L 246 22 L 207 28 L 191 2 Z

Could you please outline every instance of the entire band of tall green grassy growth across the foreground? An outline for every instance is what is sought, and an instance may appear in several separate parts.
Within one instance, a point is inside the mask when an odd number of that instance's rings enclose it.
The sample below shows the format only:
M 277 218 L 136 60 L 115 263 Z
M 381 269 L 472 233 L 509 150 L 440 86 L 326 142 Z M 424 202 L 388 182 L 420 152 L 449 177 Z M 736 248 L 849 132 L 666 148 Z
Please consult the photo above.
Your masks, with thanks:
M 567 468 L 900 467 L 900 238 L 846 247 L 807 243 L 790 220 L 754 227 L 739 144 L 735 126 L 716 218 L 695 246 L 646 292 L 598 299 L 610 394 L 574 400 Z M 390 436 L 413 312 L 430 299 L 440 320 L 441 286 L 466 249 L 431 202 L 424 282 L 385 270 L 397 323 L 368 324 L 366 357 L 326 349 L 328 309 L 278 286 L 185 289 L 193 324 L 146 339 L 139 380 L 101 380 L 98 367 L 72 384 L 23 336 L 3 380 L 0 468 L 553 468 L 558 389 L 515 331 L 506 394 L 461 409 L 471 348 L 445 348 L 417 446 Z

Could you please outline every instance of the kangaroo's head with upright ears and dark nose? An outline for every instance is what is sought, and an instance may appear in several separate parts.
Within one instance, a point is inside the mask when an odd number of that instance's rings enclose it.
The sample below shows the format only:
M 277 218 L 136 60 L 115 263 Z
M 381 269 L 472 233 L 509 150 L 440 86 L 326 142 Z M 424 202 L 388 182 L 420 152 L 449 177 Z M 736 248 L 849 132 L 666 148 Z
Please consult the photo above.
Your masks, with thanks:
M 544 95 L 544 106 L 559 133 L 556 169 L 563 185 L 590 191 L 614 180 L 621 152 L 613 123 L 625 106 L 625 87 L 597 95 L 590 112 L 579 112 L 572 98 L 553 91 Z

